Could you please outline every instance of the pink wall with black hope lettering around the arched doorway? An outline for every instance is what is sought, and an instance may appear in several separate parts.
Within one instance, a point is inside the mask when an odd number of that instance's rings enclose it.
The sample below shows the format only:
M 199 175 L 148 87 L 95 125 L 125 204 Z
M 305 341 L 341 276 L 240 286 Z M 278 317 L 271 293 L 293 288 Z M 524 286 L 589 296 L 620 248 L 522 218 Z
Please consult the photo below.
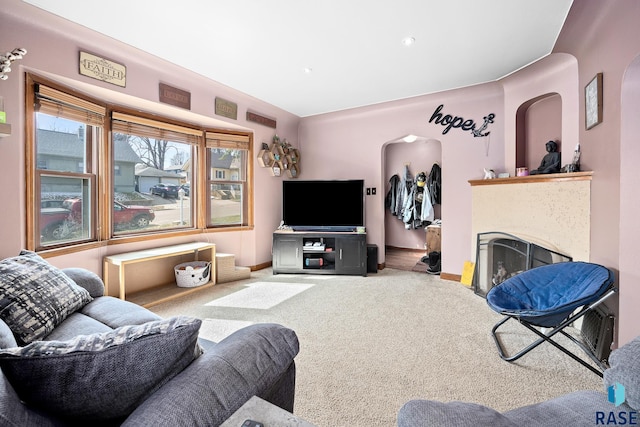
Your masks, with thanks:
M 386 188 L 387 143 L 403 135 L 420 135 L 438 140 L 442 147 L 442 271 L 461 274 L 465 260 L 475 257 L 471 236 L 471 188 L 468 181 L 483 176 L 483 169 L 503 169 L 505 114 L 502 88 L 497 83 L 425 95 L 370 107 L 329 113 L 301 120 L 298 138 L 302 150 L 314 159 L 305 178 L 364 178 L 366 185 Z M 429 123 L 439 105 L 443 112 L 473 119 L 494 113 L 495 123 L 488 137 Z M 410 145 L 410 144 L 407 144 Z M 421 153 L 412 163 L 420 164 Z M 429 161 L 426 158 L 424 161 Z M 367 240 L 384 248 L 386 244 L 384 192 L 367 197 Z M 404 233 L 403 233 L 404 234 Z M 413 236 L 394 240 L 397 246 L 412 248 Z M 396 246 L 393 245 L 393 246 Z M 380 252 L 380 251 L 379 251 Z M 379 261 L 384 258 L 379 254 Z

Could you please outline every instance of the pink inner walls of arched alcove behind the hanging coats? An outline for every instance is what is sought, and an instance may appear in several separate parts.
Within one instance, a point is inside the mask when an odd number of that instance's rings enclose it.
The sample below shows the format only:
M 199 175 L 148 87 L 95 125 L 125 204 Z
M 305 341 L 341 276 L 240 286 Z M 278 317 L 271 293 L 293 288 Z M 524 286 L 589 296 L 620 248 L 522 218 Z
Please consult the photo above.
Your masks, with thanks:
M 414 139 L 415 138 L 415 139 Z M 411 141 L 413 142 L 406 142 Z M 427 177 L 434 164 L 442 166 L 442 144 L 437 139 L 420 136 L 405 136 L 394 139 L 383 147 L 383 168 L 385 177 L 385 195 L 389 191 L 389 180 L 393 175 L 402 178 L 405 167 L 409 169 L 411 177 L 415 180 L 420 172 Z M 441 206 L 434 206 L 435 219 L 441 219 Z M 384 214 L 384 240 L 385 246 L 424 250 L 426 244 L 426 227 L 406 229 L 405 223 L 391 214 L 385 206 Z

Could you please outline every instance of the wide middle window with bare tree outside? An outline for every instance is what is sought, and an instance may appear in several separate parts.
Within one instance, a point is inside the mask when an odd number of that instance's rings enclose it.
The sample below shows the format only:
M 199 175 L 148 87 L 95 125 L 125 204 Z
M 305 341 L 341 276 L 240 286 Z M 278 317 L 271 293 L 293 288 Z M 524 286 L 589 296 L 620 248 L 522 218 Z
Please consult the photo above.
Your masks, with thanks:
M 119 217 L 114 210 L 113 234 L 194 227 L 191 194 L 180 190 L 193 175 L 202 131 L 116 112 L 111 128 L 113 200 L 139 211 Z

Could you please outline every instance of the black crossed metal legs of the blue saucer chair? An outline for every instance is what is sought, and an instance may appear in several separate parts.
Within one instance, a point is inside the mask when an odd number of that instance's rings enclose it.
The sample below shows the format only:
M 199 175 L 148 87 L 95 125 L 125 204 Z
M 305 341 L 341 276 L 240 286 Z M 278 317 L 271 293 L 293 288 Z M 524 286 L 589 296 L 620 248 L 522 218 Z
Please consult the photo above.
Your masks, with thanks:
M 585 314 L 587 314 L 587 312 L 589 310 L 592 310 L 593 308 L 595 308 L 596 306 L 601 304 L 604 300 L 609 298 L 614 293 L 616 293 L 616 289 L 609 290 L 602 297 L 600 297 L 600 299 L 598 299 L 597 301 L 595 301 L 594 303 L 592 303 L 592 304 L 590 304 L 588 306 L 584 306 L 578 313 L 576 313 L 575 315 L 569 316 L 562 323 L 560 323 L 560 325 L 554 327 L 547 334 L 539 331 L 535 326 L 533 326 L 529 322 L 526 322 L 526 321 L 520 319 L 519 317 L 510 316 L 510 315 L 506 315 L 505 314 L 506 317 L 504 319 L 500 320 L 498 323 L 496 323 L 495 326 L 493 327 L 493 329 L 491 330 L 491 335 L 493 336 L 493 340 L 495 341 L 496 347 L 498 348 L 498 354 L 500 355 L 500 358 L 502 360 L 507 361 L 507 362 L 513 362 L 515 360 L 518 360 L 520 357 L 524 356 L 525 354 L 527 354 L 528 352 L 530 352 L 531 350 L 533 350 L 534 348 L 536 348 L 537 346 L 539 346 L 543 342 L 548 342 L 551 345 L 553 345 L 554 347 L 556 347 L 558 350 L 562 351 L 563 353 L 565 353 L 566 355 L 571 357 L 576 362 L 580 363 L 581 365 L 585 366 L 590 371 L 594 372 L 596 375 L 599 375 L 600 377 L 602 377 L 603 376 L 602 371 L 604 371 L 604 369 L 606 369 L 607 366 L 604 363 L 602 363 L 600 360 L 598 360 L 593 355 L 593 353 L 583 343 L 579 342 L 574 337 L 572 337 L 571 335 L 567 334 L 563 329 L 566 326 L 568 326 L 569 324 L 575 322 L 577 319 L 579 319 L 582 316 L 584 316 Z M 539 337 L 536 341 L 534 341 L 530 345 L 524 347 L 523 349 L 521 349 L 520 351 L 518 351 L 517 353 L 515 353 L 513 355 L 507 355 L 507 352 L 505 350 L 504 344 L 498 338 L 498 333 L 497 333 L 498 329 L 502 325 L 504 325 L 509 319 L 518 320 L 521 325 L 525 326 L 527 329 L 529 329 L 530 331 L 532 331 L 533 333 L 535 333 Z M 593 362 L 596 365 L 598 365 L 598 367 L 601 370 L 598 370 L 598 369 L 594 368 L 593 366 L 589 365 L 587 362 L 585 362 L 583 359 L 581 359 L 578 356 L 576 356 L 570 350 L 568 350 L 567 348 L 563 347 L 562 345 L 558 344 L 556 341 L 551 339 L 557 333 L 561 333 L 565 337 L 569 338 L 573 343 L 575 343 L 580 349 L 582 349 L 591 358 L 591 360 L 593 360 Z

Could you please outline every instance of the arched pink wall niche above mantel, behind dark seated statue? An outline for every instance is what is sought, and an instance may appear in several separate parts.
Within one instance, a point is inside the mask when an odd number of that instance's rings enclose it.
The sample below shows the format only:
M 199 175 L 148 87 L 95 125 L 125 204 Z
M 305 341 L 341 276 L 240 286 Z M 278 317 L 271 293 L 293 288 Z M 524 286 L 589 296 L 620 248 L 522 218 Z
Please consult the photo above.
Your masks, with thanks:
M 537 169 L 547 141 L 562 152 L 562 97 L 553 92 L 523 102 L 516 111 L 516 167 Z M 569 147 L 567 147 L 568 149 Z M 571 150 L 573 151 L 573 150 Z

